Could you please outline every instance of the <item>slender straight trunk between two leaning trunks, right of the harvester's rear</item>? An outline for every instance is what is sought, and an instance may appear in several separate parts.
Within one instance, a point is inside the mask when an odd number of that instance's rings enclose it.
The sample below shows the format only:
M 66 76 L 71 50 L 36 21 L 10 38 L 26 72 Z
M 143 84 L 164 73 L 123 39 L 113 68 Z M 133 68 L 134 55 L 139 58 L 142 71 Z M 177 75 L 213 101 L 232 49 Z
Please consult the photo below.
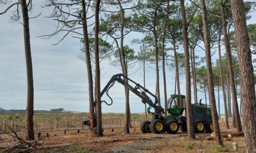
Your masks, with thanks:
M 225 91 L 225 85 L 224 85 L 224 78 L 222 73 L 222 63 L 221 63 L 221 28 L 219 30 L 219 37 L 218 37 L 218 50 L 219 50 L 219 68 L 220 68 L 220 77 L 221 77 L 221 86 L 222 86 L 222 94 L 223 94 L 223 100 L 224 100 L 224 113 L 225 113 L 225 126 L 226 129 L 229 129 L 228 125 L 228 112 L 227 112 L 227 98 L 226 98 L 226 91 Z

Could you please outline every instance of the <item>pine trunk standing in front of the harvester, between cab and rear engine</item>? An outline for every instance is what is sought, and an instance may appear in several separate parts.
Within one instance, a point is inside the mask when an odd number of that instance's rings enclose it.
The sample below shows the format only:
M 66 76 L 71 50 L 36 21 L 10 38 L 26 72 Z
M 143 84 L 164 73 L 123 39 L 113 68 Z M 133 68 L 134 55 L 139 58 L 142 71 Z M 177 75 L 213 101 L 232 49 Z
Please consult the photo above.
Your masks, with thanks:
M 189 51 L 188 51 L 188 38 L 187 38 L 187 20 L 186 20 L 184 0 L 180 0 L 180 11 L 182 15 L 182 33 L 183 33 L 184 53 L 185 53 L 187 135 L 188 135 L 188 139 L 195 139 L 194 123 L 193 123 L 192 111 L 191 111 Z

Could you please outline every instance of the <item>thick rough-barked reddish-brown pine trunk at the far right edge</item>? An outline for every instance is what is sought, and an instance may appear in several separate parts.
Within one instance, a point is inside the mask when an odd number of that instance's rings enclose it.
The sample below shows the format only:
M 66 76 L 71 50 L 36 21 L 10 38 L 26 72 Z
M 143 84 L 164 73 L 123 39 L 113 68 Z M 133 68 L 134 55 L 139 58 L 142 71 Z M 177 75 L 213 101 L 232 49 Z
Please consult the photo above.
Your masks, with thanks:
M 256 100 L 251 50 L 243 0 L 232 0 L 231 10 L 241 74 L 241 96 L 246 152 L 256 152 Z M 245 98 L 244 98 L 245 97 Z

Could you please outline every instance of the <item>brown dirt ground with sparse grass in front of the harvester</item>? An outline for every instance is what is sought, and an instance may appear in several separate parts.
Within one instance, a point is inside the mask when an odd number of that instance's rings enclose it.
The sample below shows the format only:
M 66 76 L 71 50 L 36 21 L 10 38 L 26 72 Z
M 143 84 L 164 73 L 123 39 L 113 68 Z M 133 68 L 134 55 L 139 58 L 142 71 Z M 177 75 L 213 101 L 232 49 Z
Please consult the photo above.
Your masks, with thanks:
M 39 142 L 42 147 L 33 152 L 245 152 L 244 137 L 223 138 L 226 148 L 216 146 L 215 140 L 208 140 L 210 134 L 197 134 L 196 140 L 188 140 L 186 133 L 177 134 L 142 134 L 139 127 L 130 129 L 131 134 L 123 134 L 121 128 L 104 129 L 103 137 L 96 137 L 88 130 L 41 131 L 49 138 Z M 222 133 L 232 133 L 235 129 Z M 9 135 L 0 135 L 0 148 L 13 145 L 15 139 Z M 233 151 L 232 143 L 238 143 L 238 150 Z M 1 151 L 0 151 L 1 152 Z

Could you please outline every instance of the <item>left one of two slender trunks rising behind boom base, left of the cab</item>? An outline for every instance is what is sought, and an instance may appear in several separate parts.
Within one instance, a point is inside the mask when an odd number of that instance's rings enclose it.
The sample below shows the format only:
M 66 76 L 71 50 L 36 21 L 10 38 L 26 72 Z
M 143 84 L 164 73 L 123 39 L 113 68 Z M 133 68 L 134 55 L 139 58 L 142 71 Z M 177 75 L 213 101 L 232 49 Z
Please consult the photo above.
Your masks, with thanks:
M 154 41 L 155 41 L 157 100 L 158 100 L 159 105 L 161 105 L 161 103 L 160 103 L 160 88 L 159 88 L 159 66 L 158 66 L 158 34 L 156 32 L 156 24 L 157 24 L 156 18 L 157 18 L 157 9 L 155 10 L 155 14 L 154 14 L 153 34 L 154 34 Z

